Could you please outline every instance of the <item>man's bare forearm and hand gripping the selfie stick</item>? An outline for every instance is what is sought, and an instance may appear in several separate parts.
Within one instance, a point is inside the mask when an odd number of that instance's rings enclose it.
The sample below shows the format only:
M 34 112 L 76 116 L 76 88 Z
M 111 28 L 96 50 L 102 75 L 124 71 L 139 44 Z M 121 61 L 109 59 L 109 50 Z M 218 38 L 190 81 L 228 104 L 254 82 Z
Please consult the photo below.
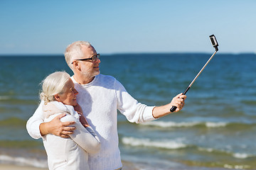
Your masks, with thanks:
M 171 103 L 166 104 L 165 106 L 157 106 L 153 109 L 153 117 L 154 118 L 161 118 L 164 115 L 169 115 L 171 113 L 170 108 L 172 106 L 176 106 L 176 110 L 177 111 L 181 111 L 181 109 L 183 108 L 183 106 L 185 105 L 185 99 L 186 99 L 186 95 L 178 94 L 177 96 L 175 96 L 172 100 Z

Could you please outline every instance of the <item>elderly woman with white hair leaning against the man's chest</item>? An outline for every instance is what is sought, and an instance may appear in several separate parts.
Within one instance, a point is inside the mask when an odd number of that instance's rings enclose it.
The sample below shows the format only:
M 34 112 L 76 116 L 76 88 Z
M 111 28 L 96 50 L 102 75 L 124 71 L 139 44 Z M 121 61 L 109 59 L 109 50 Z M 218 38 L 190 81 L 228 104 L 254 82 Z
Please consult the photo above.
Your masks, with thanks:
M 88 125 L 82 113 L 75 111 L 74 107 L 79 108 L 77 94 L 78 91 L 75 90 L 74 83 L 66 72 L 54 72 L 43 80 L 40 96 L 44 101 L 44 121 L 49 122 L 55 116 L 65 113 L 66 115 L 60 119 L 62 122 L 75 122 L 75 131 L 69 138 L 51 134 L 43 137 L 49 169 L 89 170 L 88 153 L 100 150 L 100 141 L 94 130 Z

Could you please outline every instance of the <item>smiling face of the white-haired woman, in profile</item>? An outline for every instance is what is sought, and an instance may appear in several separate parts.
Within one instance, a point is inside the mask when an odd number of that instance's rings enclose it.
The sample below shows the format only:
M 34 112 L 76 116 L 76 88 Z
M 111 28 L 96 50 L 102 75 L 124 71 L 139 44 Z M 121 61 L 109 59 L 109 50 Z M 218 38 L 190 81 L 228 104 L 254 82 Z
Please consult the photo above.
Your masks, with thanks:
M 78 91 L 75 90 L 75 84 L 69 79 L 65 84 L 65 92 L 63 94 L 58 94 L 58 97 L 55 98 L 65 105 L 76 106 L 78 104 L 76 101 L 77 94 Z

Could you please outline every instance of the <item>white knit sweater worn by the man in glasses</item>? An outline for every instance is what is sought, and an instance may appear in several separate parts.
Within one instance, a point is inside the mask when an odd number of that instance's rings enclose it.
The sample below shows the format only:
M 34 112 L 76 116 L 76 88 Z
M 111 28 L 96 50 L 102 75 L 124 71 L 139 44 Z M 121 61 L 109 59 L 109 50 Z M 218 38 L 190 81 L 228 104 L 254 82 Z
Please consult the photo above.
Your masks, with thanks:
M 73 79 L 73 77 L 71 77 Z M 132 123 L 144 123 L 155 120 L 152 115 L 154 106 L 138 103 L 130 96 L 117 79 L 99 74 L 89 84 L 78 84 L 73 79 L 79 92 L 77 100 L 87 122 L 100 138 L 101 149 L 97 154 L 89 154 L 91 170 L 114 170 L 122 167 L 117 134 L 117 110 Z M 41 137 L 39 125 L 41 106 L 28 120 L 27 130 L 31 137 Z

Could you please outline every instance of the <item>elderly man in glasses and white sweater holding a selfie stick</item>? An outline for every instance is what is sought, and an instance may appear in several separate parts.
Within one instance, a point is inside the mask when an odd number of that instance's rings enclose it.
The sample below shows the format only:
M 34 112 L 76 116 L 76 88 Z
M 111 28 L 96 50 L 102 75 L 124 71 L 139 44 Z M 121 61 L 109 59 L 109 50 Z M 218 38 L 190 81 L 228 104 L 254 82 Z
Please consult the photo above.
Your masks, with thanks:
M 89 155 L 90 169 L 122 169 L 118 147 L 117 110 L 132 123 L 144 123 L 168 115 L 170 108 L 176 106 L 176 112 L 184 106 L 185 95 L 178 94 L 165 106 L 146 106 L 132 98 L 124 86 L 114 77 L 100 74 L 100 54 L 89 42 L 73 42 L 65 50 L 65 60 L 72 69 L 72 80 L 79 92 L 78 104 L 82 108 L 87 122 L 97 133 L 101 142 L 100 152 Z M 38 139 L 51 133 L 60 137 L 69 137 L 75 128 L 72 122 L 62 123 L 56 117 L 49 123 L 43 123 L 42 103 L 28 120 L 27 130 L 31 137 Z

